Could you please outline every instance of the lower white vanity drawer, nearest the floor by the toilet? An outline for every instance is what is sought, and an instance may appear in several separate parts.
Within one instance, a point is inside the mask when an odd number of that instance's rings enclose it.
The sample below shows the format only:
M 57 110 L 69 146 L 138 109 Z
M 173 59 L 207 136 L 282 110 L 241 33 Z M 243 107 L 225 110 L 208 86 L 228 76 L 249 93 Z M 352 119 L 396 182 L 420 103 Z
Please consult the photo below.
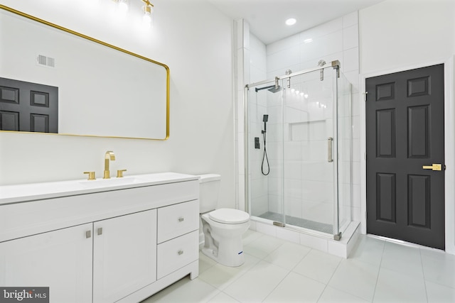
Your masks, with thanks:
M 170 274 L 199 258 L 199 231 L 161 243 L 156 248 L 156 278 Z

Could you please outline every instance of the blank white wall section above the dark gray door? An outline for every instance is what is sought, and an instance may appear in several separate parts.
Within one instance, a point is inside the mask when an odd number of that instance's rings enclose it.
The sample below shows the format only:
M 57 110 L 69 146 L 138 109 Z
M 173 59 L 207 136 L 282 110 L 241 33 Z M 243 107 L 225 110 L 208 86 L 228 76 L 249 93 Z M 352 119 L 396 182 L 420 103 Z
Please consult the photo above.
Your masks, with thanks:
M 387 0 L 360 10 L 360 72 L 454 55 L 455 1 Z

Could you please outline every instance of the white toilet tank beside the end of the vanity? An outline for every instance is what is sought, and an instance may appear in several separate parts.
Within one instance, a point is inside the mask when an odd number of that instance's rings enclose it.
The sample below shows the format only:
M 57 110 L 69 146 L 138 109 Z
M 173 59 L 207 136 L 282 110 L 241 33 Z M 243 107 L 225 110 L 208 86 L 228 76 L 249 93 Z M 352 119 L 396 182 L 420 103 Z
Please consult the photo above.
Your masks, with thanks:
M 203 214 L 216 209 L 218 194 L 220 194 L 221 176 L 207 174 L 199 177 L 199 212 Z

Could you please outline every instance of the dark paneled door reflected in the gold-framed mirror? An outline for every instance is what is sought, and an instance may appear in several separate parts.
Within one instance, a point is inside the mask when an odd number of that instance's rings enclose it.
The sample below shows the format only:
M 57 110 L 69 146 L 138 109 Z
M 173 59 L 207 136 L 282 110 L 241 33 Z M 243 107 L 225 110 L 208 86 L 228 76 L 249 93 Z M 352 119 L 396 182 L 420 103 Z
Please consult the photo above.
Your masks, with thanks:
M 0 130 L 58 133 L 58 87 L 0 78 Z

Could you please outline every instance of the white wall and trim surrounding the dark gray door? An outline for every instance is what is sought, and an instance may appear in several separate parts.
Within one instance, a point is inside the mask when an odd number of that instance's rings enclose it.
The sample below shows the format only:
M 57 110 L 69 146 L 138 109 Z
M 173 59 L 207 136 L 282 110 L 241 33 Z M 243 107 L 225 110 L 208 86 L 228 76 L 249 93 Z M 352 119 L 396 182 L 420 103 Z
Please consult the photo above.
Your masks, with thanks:
M 454 55 L 455 1 L 387 0 L 359 12 L 360 89 L 366 77 L 445 63 L 446 251 L 455 253 Z M 448 81 L 448 82 L 447 82 Z M 360 103 L 360 153 L 365 152 L 365 104 Z M 365 160 L 361 160 L 365 209 Z M 365 232 L 365 226 L 363 226 Z

